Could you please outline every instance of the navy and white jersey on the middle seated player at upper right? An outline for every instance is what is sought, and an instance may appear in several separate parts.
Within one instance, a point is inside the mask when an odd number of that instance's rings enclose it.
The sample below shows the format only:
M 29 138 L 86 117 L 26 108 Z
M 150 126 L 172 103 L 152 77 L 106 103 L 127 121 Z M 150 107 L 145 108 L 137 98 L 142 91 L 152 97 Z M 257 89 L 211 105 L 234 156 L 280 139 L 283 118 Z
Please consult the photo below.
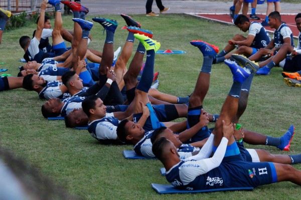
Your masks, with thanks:
M 290 37 L 290 45 L 294 46 L 291 29 L 286 24 L 282 23 L 280 27 L 274 31 L 274 46 L 281 46 L 284 43 L 283 39 L 286 37 Z

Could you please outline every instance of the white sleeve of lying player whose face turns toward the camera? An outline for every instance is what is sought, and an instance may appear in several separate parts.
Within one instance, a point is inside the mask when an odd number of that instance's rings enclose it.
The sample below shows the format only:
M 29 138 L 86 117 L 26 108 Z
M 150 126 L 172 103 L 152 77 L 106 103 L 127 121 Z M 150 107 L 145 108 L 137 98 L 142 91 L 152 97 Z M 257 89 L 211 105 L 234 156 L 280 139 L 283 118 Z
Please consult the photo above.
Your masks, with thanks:
M 109 121 L 99 122 L 96 126 L 96 137 L 98 139 L 116 139 L 117 126 L 113 125 Z

